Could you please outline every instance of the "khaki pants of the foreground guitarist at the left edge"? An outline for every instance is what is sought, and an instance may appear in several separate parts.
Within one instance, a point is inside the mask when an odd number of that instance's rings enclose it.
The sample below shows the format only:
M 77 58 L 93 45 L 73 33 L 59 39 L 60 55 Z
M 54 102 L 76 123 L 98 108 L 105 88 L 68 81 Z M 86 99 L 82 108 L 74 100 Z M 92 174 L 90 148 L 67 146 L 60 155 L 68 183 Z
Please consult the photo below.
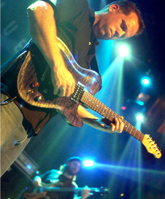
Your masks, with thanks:
M 8 96 L 1 94 L 1 101 Z M 11 102 L 1 106 L 1 174 L 2 176 L 24 150 L 30 138 L 23 125 L 20 109 Z

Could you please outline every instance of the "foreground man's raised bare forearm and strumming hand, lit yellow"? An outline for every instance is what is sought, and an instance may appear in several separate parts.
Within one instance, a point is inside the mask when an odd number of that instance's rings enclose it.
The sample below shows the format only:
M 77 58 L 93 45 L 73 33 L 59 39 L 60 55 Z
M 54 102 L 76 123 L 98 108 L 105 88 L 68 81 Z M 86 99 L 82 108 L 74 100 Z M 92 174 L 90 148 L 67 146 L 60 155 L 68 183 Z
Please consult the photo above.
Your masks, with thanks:
M 74 91 L 75 81 L 65 67 L 58 47 L 53 8 L 47 2 L 37 1 L 29 6 L 27 11 L 33 42 L 40 49 L 51 69 L 54 94 L 70 96 Z

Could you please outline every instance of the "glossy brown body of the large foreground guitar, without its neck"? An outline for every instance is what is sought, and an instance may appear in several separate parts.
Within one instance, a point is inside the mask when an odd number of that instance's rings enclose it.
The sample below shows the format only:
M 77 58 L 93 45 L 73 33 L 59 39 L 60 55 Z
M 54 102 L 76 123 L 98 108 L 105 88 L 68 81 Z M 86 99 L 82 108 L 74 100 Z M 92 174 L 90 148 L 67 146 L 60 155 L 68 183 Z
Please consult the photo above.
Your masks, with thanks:
M 99 91 L 101 88 L 100 75 L 92 70 L 81 68 L 60 39 L 58 39 L 58 45 L 65 65 L 73 75 L 76 84 L 78 82 L 83 84 L 85 90 L 92 95 Z M 40 70 L 42 70 L 42 74 Z M 49 67 L 45 66 L 44 70 L 40 69 L 39 66 L 36 67 L 29 51 L 17 78 L 17 89 L 20 97 L 32 106 L 56 109 L 67 123 L 81 127 L 83 122 L 77 113 L 79 103 L 72 101 L 71 96 L 58 97 L 53 95 L 53 86 L 50 79 Z

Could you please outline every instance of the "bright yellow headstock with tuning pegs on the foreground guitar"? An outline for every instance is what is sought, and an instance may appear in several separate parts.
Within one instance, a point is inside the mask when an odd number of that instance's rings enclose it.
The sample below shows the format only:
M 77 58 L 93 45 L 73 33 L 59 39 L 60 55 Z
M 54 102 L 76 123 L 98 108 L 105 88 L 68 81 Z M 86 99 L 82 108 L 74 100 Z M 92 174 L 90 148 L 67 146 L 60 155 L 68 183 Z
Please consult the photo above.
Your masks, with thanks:
M 147 151 L 153 154 L 155 158 L 160 158 L 162 156 L 157 144 L 150 138 L 148 134 L 144 135 L 142 143 L 146 147 Z

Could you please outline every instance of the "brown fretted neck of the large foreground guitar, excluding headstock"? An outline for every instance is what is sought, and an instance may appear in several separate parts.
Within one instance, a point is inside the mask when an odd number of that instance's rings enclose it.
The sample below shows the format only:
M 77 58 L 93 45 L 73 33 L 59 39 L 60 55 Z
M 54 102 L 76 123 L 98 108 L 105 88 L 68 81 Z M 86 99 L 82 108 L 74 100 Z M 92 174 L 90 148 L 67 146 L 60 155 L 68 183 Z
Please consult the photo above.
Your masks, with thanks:
M 102 102 L 100 102 L 97 98 L 95 98 L 89 92 L 84 91 L 81 97 L 81 102 L 110 121 L 113 121 L 114 118 L 120 118 L 118 114 L 116 114 L 114 111 L 112 111 Z M 124 122 L 124 130 L 142 142 L 144 138 L 144 134 L 140 132 L 139 130 L 137 130 L 134 126 L 132 126 L 126 120 L 123 120 L 123 122 Z

